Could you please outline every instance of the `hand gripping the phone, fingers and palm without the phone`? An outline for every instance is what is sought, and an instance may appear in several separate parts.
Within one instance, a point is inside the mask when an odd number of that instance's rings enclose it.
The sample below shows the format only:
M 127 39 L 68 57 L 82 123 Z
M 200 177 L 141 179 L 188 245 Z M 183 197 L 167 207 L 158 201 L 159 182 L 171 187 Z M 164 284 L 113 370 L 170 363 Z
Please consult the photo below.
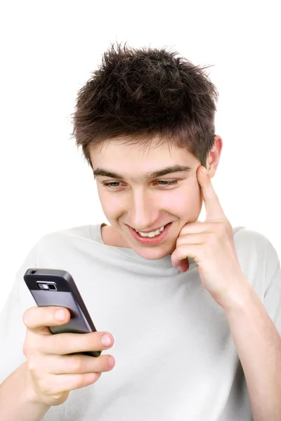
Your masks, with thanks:
M 65 312 L 65 319 L 55 319 L 58 310 Z M 112 347 L 114 339 L 110 333 L 51 333 L 49 326 L 60 327 L 69 321 L 68 309 L 58 306 L 30 307 L 23 314 L 27 327 L 23 353 L 27 358 L 27 387 L 32 401 L 60 405 L 67 400 L 70 390 L 93 384 L 101 373 L 115 366 L 110 355 L 93 358 L 82 354 Z M 111 345 L 103 345 L 105 334 L 111 338 Z

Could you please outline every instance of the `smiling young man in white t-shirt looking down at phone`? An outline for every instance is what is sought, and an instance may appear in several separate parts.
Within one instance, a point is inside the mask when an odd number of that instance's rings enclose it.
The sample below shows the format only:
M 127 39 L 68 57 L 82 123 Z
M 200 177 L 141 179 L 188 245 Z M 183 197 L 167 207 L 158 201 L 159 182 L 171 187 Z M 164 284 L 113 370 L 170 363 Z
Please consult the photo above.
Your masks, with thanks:
M 281 420 L 280 260 L 216 196 L 216 100 L 176 53 L 121 46 L 79 91 L 73 134 L 110 225 L 48 234 L 18 271 L 1 421 Z M 29 267 L 70 272 L 98 332 L 51 335 L 70 314 L 36 307 Z M 91 349 L 103 353 L 77 354 Z

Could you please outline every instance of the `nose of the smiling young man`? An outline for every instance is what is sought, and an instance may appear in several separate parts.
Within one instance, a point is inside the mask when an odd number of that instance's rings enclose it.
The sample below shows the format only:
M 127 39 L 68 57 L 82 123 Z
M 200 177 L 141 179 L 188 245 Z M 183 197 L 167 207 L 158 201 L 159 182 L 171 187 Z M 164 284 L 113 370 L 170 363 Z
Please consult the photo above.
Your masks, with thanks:
M 133 228 L 141 231 L 155 226 L 158 218 L 158 211 L 155 201 L 143 189 L 134 192 L 129 203 L 129 220 Z

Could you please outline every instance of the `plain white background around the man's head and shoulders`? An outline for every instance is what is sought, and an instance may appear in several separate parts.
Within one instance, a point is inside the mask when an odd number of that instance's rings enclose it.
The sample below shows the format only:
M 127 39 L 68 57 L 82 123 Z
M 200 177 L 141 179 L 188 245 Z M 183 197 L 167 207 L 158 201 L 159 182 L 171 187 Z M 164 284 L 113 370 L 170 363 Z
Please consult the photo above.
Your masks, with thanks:
M 278 1 L 4 1 L 0 10 L 0 310 L 42 236 L 107 222 L 91 168 L 70 140 L 77 91 L 110 41 L 172 48 L 220 98 L 214 187 L 233 227 L 280 240 Z M 203 210 L 204 211 L 204 210 Z M 202 219 L 202 218 L 200 218 Z

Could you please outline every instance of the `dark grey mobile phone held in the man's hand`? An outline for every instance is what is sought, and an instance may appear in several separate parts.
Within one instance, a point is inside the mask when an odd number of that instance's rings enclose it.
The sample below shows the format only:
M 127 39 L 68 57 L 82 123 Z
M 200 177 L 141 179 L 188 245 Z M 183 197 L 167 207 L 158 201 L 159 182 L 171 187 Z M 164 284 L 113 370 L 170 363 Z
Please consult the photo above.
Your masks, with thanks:
M 69 310 L 70 321 L 62 326 L 48 326 L 51 333 L 96 332 L 74 279 L 66 270 L 30 268 L 23 279 L 39 307 L 59 306 Z M 100 356 L 101 351 L 80 354 Z

